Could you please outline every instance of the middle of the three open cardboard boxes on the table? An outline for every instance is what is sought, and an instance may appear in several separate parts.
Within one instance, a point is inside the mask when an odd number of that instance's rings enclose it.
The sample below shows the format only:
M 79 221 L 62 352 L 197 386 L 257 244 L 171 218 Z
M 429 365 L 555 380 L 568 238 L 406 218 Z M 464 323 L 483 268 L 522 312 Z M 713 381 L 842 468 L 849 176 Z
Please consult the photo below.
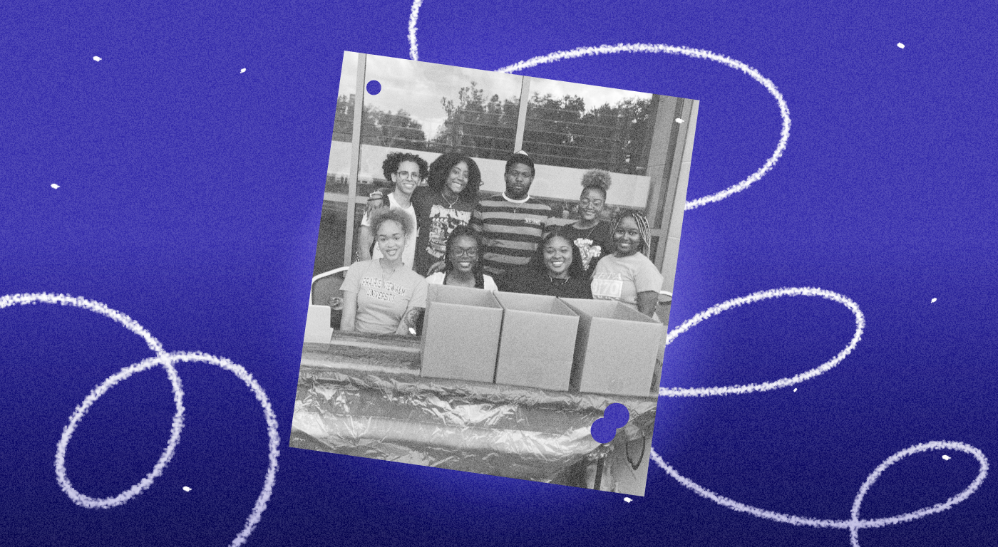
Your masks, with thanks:
M 567 392 L 579 316 L 553 296 L 495 296 L 503 307 L 496 384 Z

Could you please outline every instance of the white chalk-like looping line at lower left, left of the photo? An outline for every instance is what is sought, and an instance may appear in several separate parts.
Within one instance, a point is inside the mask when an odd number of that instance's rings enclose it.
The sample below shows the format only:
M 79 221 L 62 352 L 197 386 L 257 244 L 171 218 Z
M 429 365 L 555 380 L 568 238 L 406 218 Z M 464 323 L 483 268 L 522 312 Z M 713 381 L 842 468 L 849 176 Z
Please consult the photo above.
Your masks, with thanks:
M 280 455 L 280 452 L 277 450 L 277 445 L 280 442 L 277 435 L 277 418 L 270 407 L 270 402 L 266 397 L 266 393 L 263 392 L 263 389 L 259 386 L 259 384 L 253 380 L 252 375 L 250 375 L 250 373 L 243 367 L 224 358 L 218 358 L 200 352 L 167 353 L 163 349 L 163 345 L 160 344 L 160 342 L 156 340 L 156 338 L 154 338 L 149 331 L 143 328 L 142 325 L 139 325 L 139 323 L 127 315 L 119 311 L 112 310 L 100 302 L 94 302 L 73 296 L 51 295 L 46 293 L 15 294 L 0 297 L 0 309 L 7 308 L 15 304 L 25 305 L 36 304 L 39 302 L 45 304 L 76 306 L 108 317 L 118 323 L 121 323 L 129 331 L 141 336 L 146 341 L 149 348 L 157 354 L 155 357 L 148 358 L 141 363 L 122 369 L 101 383 L 97 388 L 94 388 L 90 395 L 84 399 L 83 403 L 76 408 L 73 415 L 70 417 L 69 424 L 63 429 L 63 434 L 60 437 L 56 448 L 56 480 L 59 482 L 59 486 L 62 490 L 66 492 L 66 495 L 68 495 L 69 498 L 77 505 L 88 508 L 104 509 L 122 505 L 141 493 L 143 490 L 152 486 L 156 477 L 160 476 L 163 473 L 163 470 L 166 469 L 167 464 L 170 463 L 170 460 L 176 452 L 177 444 L 180 442 L 181 430 L 184 427 L 184 391 L 182 389 L 181 380 L 177 374 L 177 370 L 174 368 L 175 363 L 210 363 L 233 373 L 250 388 L 250 391 L 252 391 L 256 401 L 258 401 L 260 406 L 263 408 L 263 415 L 266 420 L 267 436 L 269 439 L 269 464 L 267 465 L 266 476 L 263 480 L 263 488 L 260 491 L 259 496 L 256 498 L 256 502 L 253 505 L 250 516 L 247 517 L 246 526 L 230 545 L 231 547 L 239 547 L 240 545 L 245 544 L 247 542 L 247 538 L 250 537 L 250 534 L 259 522 L 260 515 L 262 515 L 264 510 L 266 510 L 266 502 L 270 499 L 270 494 L 273 490 L 273 484 L 277 474 L 277 456 Z M 167 448 L 164 450 L 163 455 L 160 456 L 160 459 L 157 461 L 152 472 L 146 475 L 146 477 L 137 484 L 117 496 L 109 498 L 92 498 L 78 492 L 66 475 L 65 460 L 66 448 L 73 436 L 73 431 L 76 430 L 76 426 L 83 419 L 83 416 L 86 415 L 87 411 L 90 410 L 91 406 L 93 406 L 94 403 L 101 398 L 101 396 L 107 393 L 108 390 L 113 388 L 122 380 L 127 380 L 135 373 L 149 370 L 157 365 L 163 366 L 163 368 L 167 371 L 167 375 L 170 377 L 170 382 L 174 391 L 174 402 L 177 406 L 177 413 L 174 415 L 173 426 L 170 432 L 170 440 L 167 442 Z

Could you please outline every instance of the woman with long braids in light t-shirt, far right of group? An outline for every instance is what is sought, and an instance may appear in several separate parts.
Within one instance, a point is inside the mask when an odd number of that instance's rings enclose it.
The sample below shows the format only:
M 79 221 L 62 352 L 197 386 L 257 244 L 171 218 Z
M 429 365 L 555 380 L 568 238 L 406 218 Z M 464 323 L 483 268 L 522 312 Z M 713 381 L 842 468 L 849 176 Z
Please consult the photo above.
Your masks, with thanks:
M 600 259 L 593 272 L 593 298 L 619 300 L 654 317 L 663 278 L 644 254 L 651 244 L 651 230 L 644 214 L 629 211 L 618 217 L 614 253 Z

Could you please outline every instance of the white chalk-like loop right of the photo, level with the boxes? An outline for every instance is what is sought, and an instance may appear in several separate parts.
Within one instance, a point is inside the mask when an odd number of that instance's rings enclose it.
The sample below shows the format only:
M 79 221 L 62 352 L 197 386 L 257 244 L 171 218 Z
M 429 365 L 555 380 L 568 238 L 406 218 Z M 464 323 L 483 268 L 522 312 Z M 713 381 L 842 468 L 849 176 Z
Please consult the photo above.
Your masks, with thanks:
M 855 349 L 856 344 L 859 343 L 860 338 L 863 334 L 863 328 L 866 326 L 866 319 L 863 317 L 863 313 L 859 311 L 859 306 L 855 302 L 849 300 L 848 298 L 831 291 L 826 291 L 824 289 L 815 289 L 812 287 L 790 287 L 783 289 L 770 289 L 768 291 L 759 291 L 757 293 L 752 293 L 749 296 L 744 296 L 742 298 L 735 298 L 727 302 L 722 302 L 708 308 L 693 318 L 688 319 L 682 325 L 674 329 L 666 337 L 666 346 L 669 346 L 676 340 L 676 337 L 689 331 L 691 328 L 699 324 L 701 321 L 713 316 L 718 315 L 725 310 L 730 310 L 737 306 L 742 306 L 743 304 L 750 304 L 752 302 L 758 302 L 759 300 L 765 300 L 767 298 L 777 298 L 780 296 L 820 296 L 828 300 L 832 300 L 842 304 L 849 309 L 854 316 L 856 316 L 856 332 L 852 335 L 852 340 L 849 345 L 845 347 L 841 352 L 838 352 L 831 361 L 822 364 L 819 367 L 815 367 L 809 371 L 800 373 L 791 378 L 782 378 L 774 382 L 765 382 L 762 384 L 749 384 L 746 386 L 725 386 L 722 388 L 659 388 L 660 397 L 707 397 L 707 396 L 719 396 L 719 395 L 738 395 L 738 394 L 748 394 L 751 392 L 767 392 L 769 390 L 777 390 L 779 388 L 786 388 L 793 386 L 794 384 L 800 384 L 805 380 L 810 380 L 816 376 L 822 375 L 836 365 L 841 363 L 843 359 Z

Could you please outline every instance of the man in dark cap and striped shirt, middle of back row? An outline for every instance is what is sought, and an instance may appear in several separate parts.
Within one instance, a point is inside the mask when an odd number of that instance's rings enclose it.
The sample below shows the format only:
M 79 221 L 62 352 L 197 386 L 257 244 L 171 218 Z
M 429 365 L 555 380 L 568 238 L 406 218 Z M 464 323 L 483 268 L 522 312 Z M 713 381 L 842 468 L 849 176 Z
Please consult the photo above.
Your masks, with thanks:
M 478 202 L 471 225 L 485 239 L 482 265 L 491 276 L 526 265 L 541 241 L 551 207 L 530 197 L 534 161 L 524 152 L 506 161 L 506 191 Z

